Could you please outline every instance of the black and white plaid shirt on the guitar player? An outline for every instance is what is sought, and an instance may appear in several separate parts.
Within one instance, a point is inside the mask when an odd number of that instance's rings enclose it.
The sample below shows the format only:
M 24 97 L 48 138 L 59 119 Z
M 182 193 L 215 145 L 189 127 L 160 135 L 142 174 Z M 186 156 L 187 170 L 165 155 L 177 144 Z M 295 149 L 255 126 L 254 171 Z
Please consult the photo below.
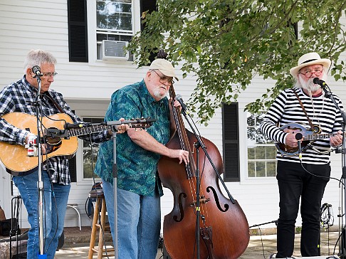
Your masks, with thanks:
M 65 114 L 69 115 L 73 122 L 83 123 L 80 118 L 75 116 L 63 100 L 63 95 L 57 93 L 55 90 L 48 90 L 58 105 L 63 109 Z M 0 117 L 6 115 L 9 112 L 24 112 L 29 115 L 36 115 L 36 96 L 37 90 L 28 83 L 25 75 L 21 80 L 16 83 L 7 85 L 0 92 Z M 50 116 L 60 111 L 58 108 L 49 100 L 46 95 L 42 95 L 41 103 L 42 110 L 41 115 Z M 6 120 L 0 119 L 0 141 L 9 142 L 10 144 L 23 145 L 26 139 L 26 135 L 29 133 L 25 129 L 19 129 L 10 125 Z M 90 136 L 80 136 L 81 139 L 91 140 L 93 142 L 103 142 L 110 139 L 108 132 L 100 132 L 98 134 L 92 134 Z M 53 172 L 51 174 L 51 180 L 57 184 L 70 184 L 70 171 L 68 169 L 68 158 L 65 156 L 51 157 L 43 163 L 43 169 Z

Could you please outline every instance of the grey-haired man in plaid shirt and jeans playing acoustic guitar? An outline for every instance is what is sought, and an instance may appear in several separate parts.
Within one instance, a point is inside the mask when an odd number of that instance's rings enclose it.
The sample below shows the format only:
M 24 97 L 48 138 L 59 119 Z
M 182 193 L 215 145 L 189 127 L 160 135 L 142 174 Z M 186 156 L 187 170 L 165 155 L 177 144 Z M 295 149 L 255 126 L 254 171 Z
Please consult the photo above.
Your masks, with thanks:
M 41 98 L 41 116 L 43 119 L 57 115 L 59 112 L 68 115 L 71 122 L 83 124 L 82 120 L 75 116 L 63 100 L 63 95 L 50 89 L 51 83 L 56 76 L 56 58 L 51 53 L 41 50 L 30 51 L 26 57 L 24 69 L 25 75 L 16 83 L 7 85 L 0 92 L 0 141 L 6 142 L 7 146 L 14 146 L 23 149 L 28 139 L 36 139 L 32 132 L 35 127 L 28 129 L 15 127 L 14 123 L 9 123 L 11 115 L 32 116 L 36 115 L 36 97 Z M 36 67 L 36 69 L 34 69 Z M 41 77 L 41 92 L 38 93 L 37 76 Z M 4 119 L 6 117 L 6 119 Z M 36 120 L 36 117 L 33 117 Z M 49 121 L 49 120 L 48 120 Z M 61 122 L 61 121 L 60 121 Z M 18 122 L 23 124 L 22 121 Z M 33 125 L 35 125 L 33 123 Z M 43 123 L 44 125 L 44 123 Z M 123 133 L 128 126 L 118 126 L 118 132 Z M 37 127 L 36 127 L 37 132 Z M 103 129 L 100 133 L 83 136 L 85 140 L 93 142 L 103 142 L 112 137 L 112 132 Z M 13 145 L 10 145 L 13 144 Z M 42 153 L 46 153 L 46 145 L 43 145 Z M 26 151 L 24 151 L 26 152 Z M 14 157 L 13 154 L 7 154 L 8 157 L 15 160 L 16 164 L 25 166 L 24 159 Z M 43 156 L 46 157 L 46 156 Z M 26 157 L 25 157 L 26 158 Z M 43 255 L 48 259 L 53 259 L 58 246 L 58 238 L 63 233 L 63 224 L 65 218 L 66 205 L 68 203 L 68 194 L 70 192 L 70 172 L 68 170 L 68 156 L 59 155 L 46 159 L 42 166 L 43 181 L 43 237 L 45 239 Z M 17 159 L 17 160 L 16 160 Z M 1 158 L 2 160 L 2 158 Z M 38 161 L 36 157 L 36 161 Z M 4 163 L 5 164 L 5 163 Z M 5 164 L 6 165 L 6 164 Z M 7 166 L 6 166 L 7 167 Z M 14 170 L 14 169 L 12 169 Z M 16 184 L 23 203 L 28 211 L 28 222 L 31 225 L 28 231 L 27 258 L 38 258 L 39 251 L 39 213 L 38 213 L 38 169 L 30 171 L 8 171 L 13 174 L 14 184 Z

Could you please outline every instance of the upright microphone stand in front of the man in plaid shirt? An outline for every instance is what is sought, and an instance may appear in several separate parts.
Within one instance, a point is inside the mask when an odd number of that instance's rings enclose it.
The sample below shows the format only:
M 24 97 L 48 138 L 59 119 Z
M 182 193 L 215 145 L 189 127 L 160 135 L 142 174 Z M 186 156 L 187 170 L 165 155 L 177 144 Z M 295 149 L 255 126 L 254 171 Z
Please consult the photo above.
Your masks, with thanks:
M 36 122 L 37 122 L 37 150 L 38 150 L 38 231 L 39 231 L 39 247 L 40 254 L 38 255 L 39 259 L 46 259 L 47 255 L 44 254 L 44 240 L 43 240 L 43 181 L 42 181 L 42 157 L 41 157 L 41 121 L 40 121 L 40 109 L 41 109 L 41 73 L 36 73 L 38 83 L 38 92 L 37 92 L 37 105 L 36 105 Z

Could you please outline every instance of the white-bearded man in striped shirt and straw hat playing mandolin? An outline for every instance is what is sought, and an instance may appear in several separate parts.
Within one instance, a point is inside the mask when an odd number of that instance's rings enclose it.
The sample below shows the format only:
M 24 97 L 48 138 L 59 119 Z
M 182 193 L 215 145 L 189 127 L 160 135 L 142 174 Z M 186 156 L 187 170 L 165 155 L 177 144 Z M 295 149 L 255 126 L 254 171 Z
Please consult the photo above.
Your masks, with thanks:
M 318 255 L 320 207 L 330 177 L 329 151 L 342 143 L 340 111 L 330 98 L 325 97 L 323 88 L 314 83 L 315 78 L 327 79 L 330 64 L 329 59 L 320 58 L 318 53 L 301 56 L 298 66 L 290 69 L 296 81 L 295 87 L 283 90 L 261 122 L 261 131 L 278 142 L 279 149 L 276 157 L 280 194 L 278 253 L 273 258 L 290 258 L 293 255 L 295 219 L 300 199 L 300 252 L 303 257 Z M 335 96 L 335 99 L 343 109 L 340 98 Z M 308 148 L 303 149 L 299 139 L 308 139 L 308 136 L 304 137 L 305 128 L 313 134 L 321 132 L 330 137 L 310 142 Z M 300 154 L 302 150 L 303 155 Z

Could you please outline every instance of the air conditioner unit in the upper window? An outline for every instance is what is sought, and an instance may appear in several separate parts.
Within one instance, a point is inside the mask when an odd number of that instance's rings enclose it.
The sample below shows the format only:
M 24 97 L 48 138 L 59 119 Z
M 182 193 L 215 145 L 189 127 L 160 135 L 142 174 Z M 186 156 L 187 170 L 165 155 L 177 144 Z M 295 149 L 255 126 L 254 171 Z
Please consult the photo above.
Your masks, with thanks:
M 129 52 L 125 51 L 127 41 L 102 41 L 103 60 L 128 60 Z

